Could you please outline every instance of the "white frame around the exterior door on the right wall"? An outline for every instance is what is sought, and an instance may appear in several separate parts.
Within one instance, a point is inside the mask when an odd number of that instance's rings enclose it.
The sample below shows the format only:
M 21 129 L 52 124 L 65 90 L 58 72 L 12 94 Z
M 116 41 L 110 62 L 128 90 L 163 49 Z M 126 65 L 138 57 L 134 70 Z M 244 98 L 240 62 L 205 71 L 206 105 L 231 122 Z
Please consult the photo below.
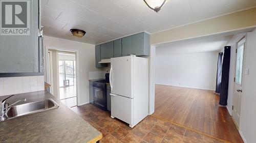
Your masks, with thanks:
M 238 56 L 238 53 L 237 53 L 237 49 L 238 49 L 238 43 L 243 40 L 245 38 L 245 43 L 244 43 L 244 53 L 243 53 L 243 66 L 242 66 L 242 80 L 241 80 L 241 84 L 237 83 L 236 81 L 236 76 L 237 76 L 237 56 Z M 244 80 L 244 63 L 245 63 L 245 50 L 246 50 L 246 33 L 243 34 L 237 41 L 236 41 L 236 56 L 234 58 L 235 62 L 234 62 L 234 84 L 233 84 L 233 98 L 232 98 L 232 119 L 234 121 L 234 124 L 237 126 L 237 128 L 239 129 L 239 125 L 237 125 L 238 123 L 236 122 L 236 120 L 233 118 L 233 105 L 234 105 L 234 94 L 236 94 L 236 84 L 239 84 L 242 89 L 243 89 L 243 80 Z M 243 93 L 241 93 L 243 95 Z M 241 101 L 242 103 L 242 97 L 241 97 Z M 240 106 L 241 108 L 241 106 Z M 241 109 L 240 109 L 241 111 Z M 240 117 L 239 119 L 241 119 L 241 112 L 240 112 Z

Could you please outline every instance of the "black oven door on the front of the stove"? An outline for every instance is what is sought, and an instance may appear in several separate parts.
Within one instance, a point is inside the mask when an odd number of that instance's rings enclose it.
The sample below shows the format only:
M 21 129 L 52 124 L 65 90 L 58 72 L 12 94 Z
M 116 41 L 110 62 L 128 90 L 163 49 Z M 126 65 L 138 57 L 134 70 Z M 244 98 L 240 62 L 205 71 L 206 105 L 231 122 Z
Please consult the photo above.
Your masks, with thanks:
M 93 85 L 93 104 L 106 110 L 106 89 Z

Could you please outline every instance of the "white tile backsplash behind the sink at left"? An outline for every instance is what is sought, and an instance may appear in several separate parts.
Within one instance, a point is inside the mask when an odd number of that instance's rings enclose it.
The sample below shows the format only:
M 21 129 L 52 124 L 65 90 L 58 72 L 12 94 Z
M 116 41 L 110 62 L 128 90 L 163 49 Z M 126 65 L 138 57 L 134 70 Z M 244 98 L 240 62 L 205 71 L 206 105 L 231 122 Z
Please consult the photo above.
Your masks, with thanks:
M 44 76 L 0 77 L 0 96 L 44 90 Z

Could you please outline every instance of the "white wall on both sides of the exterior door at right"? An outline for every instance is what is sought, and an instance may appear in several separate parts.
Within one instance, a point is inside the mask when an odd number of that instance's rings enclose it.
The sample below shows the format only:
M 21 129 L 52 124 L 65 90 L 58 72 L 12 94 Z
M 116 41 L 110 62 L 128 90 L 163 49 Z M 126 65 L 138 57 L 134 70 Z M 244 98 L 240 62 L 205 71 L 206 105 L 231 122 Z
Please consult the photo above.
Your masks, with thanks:
M 228 84 L 228 99 L 227 109 L 232 115 L 233 93 L 234 93 L 234 76 L 236 73 L 236 44 L 245 34 L 234 35 L 227 45 L 231 46 L 229 84 Z M 242 82 L 242 99 L 239 132 L 245 142 L 255 142 L 256 136 L 256 30 L 246 33 L 246 45 L 244 55 L 243 70 L 249 69 L 249 75 L 245 75 L 243 71 Z

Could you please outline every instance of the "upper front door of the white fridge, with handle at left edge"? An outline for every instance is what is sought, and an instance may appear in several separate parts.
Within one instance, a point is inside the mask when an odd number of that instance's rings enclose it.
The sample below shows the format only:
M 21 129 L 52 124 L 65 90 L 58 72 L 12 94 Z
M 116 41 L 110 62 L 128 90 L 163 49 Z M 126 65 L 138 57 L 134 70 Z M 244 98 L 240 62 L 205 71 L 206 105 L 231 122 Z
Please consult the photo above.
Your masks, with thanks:
M 133 58 L 123 56 L 111 59 L 111 93 L 133 98 Z

